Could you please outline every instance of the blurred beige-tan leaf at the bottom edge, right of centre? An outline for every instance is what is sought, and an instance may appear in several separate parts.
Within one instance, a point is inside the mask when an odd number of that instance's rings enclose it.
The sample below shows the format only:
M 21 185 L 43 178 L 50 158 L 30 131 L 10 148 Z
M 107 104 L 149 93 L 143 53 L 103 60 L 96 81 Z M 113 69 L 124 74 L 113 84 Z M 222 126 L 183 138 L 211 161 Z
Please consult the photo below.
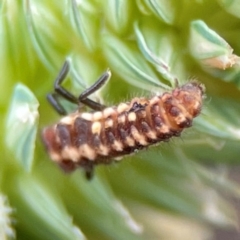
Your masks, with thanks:
M 209 227 L 199 224 L 193 218 L 166 211 L 159 212 L 155 207 L 146 206 L 137 201 L 129 202 L 128 206 L 143 223 L 145 239 L 186 240 L 194 236 L 195 239 L 200 240 L 212 237 Z

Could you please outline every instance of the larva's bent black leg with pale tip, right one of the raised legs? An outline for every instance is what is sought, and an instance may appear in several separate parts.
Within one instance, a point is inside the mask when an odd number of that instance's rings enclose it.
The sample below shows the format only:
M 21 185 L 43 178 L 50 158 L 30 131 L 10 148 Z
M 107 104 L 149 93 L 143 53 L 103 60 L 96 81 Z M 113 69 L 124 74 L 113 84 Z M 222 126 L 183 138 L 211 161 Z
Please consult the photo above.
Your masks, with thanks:
M 111 72 L 109 70 L 104 72 L 92 86 L 90 86 L 80 94 L 80 96 L 78 97 L 79 102 L 84 103 L 85 105 L 94 110 L 102 110 L 103 108 L 105 108 L 104 105 L 94 102 L 93 100 L 89 99 L 88 96 L 99 90 L 110 77 Z

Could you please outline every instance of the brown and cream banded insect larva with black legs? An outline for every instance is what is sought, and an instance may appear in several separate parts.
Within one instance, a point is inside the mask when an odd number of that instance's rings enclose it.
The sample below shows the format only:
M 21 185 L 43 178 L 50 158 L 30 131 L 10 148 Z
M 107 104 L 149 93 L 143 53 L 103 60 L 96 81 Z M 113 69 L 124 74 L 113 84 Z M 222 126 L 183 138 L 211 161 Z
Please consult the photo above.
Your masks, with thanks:
M 66 172 L 81 167 L 87 179 L 91 179 L 94 166 L 119 161 L 121 156 L 179 136 L 201 112 L 205 89 L 197 81 L 177 86 L 161 96 L 136 97 L 106 107 L 89 96 L 107 82 L 110 71 L 104 72 L 77 98 L 61 86 L 69 68 L 66 61 L 55 80 L 54 93 L 47 96 L 55 110 L 65 116 L 42 132 L 50 158 Z M 67 115 L 59 102 L 60 96 L 77 104 L 79 109 Z M 92 111 L 82 112 L 82 105 Z

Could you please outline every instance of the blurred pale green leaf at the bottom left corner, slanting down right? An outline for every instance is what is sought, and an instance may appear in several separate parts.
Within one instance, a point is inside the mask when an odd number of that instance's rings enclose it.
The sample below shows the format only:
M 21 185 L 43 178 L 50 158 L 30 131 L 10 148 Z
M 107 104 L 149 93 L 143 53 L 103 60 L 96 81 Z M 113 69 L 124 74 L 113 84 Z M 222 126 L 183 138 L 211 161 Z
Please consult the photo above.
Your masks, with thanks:
M 73 224 L 72 216 L 67 212 L 60 196 L 55 196 L 54 191 L 50 192 L 46 185 L 34 178 L 29 181 L 26 177 L 18 183 L 17 192 L 20 196 L 19 217 L 26 234 L 34 232 L 38 239 L 46 240 L 86 239 L 80 228 Z M 22 211 L 28 214 L 25 215 Z

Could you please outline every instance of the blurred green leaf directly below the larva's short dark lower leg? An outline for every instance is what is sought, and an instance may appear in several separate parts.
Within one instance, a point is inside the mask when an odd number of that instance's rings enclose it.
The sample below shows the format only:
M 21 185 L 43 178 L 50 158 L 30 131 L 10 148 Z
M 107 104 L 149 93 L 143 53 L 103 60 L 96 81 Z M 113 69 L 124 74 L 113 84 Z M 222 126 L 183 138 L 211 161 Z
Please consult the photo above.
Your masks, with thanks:
M 104 178 L 96 176 L 89 183 L 76 173 L 70 183 L 69 194 L 64 198 L 74 218 L 81 223 L 82 230 L 89 229 L 89 226 L 92 229 L 88 231 L 89 239 L 143 239 L 141 224 L 131 217 L 129 210 L 114 196 Z M 75 211 L 74 205 L 84 209 L 84 215 L 87 216 L 84 221 L 83 212 Z

